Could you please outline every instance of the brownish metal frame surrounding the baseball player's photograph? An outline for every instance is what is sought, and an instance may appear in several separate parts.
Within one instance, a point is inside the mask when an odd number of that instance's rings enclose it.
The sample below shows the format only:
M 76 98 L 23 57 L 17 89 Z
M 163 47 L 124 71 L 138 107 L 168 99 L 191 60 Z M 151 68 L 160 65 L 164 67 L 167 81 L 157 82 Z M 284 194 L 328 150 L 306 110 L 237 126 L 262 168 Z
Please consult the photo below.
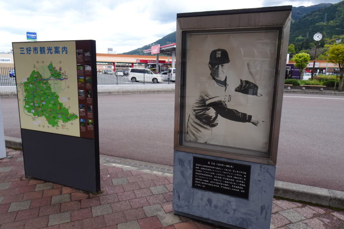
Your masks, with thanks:
M 175 109 L 174 109 L 174 150 L 198 153 L 261 164 L 276 165 L 277 148 L 281 122 L 284 77 L 287 62 L 287 45 L 291 20 L 291 6 L 264 7 L 256 9 L 209 11 L 177 14 L 176 34 L 176 71 Z M 229 30 L 271 30 L 277 29 L 278 47 L 275 66 L 275 80 L 271 110 L 271 127 L 269 133 L 268 156 L 251 156 L 248 154 L 228 153 L 221 150 L 209 150 L 201 147 L 184 146 L 181 141 L 183 131 L 183 106 L 185 103 L 185 44 L 189 32 L 213 32 Z M 245 150 L 244 150 L 245 151 Z

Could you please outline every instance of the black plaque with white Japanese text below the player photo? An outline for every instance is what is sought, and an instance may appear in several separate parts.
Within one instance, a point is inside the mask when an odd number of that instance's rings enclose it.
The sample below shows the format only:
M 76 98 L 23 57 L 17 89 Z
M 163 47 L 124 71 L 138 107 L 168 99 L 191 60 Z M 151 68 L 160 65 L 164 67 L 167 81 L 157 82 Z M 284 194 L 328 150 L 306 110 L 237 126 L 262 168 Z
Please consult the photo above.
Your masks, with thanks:
M 250 175 L 250 165 L 193 157 L 193 188 L 248 199 Z

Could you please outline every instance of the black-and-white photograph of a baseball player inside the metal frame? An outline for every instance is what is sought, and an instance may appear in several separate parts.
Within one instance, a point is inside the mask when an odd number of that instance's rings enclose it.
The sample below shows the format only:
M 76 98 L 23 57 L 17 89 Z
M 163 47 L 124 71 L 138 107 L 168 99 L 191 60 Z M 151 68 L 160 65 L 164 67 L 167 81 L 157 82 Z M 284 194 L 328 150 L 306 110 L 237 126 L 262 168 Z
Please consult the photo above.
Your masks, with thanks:
M 278 33 L 185 33 L 183 145 L 267 154 Z

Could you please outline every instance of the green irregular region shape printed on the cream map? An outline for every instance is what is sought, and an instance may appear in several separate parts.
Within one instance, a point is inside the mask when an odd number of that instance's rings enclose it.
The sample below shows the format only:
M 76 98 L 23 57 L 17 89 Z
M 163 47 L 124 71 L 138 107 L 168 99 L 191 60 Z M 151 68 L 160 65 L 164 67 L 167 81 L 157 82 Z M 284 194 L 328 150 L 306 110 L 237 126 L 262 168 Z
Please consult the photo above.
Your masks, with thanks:
M 59 96 L 52 90 L 49 81 L 67 80 L 68 76 L 57 71 L 53 64 L 33 70 L 24 82 L 24 109 L 34 117 L 44 117 L 52 127 L 58 127 L 61 121 L 67 123 L 78 119 L 74 113 L 59 102 Z

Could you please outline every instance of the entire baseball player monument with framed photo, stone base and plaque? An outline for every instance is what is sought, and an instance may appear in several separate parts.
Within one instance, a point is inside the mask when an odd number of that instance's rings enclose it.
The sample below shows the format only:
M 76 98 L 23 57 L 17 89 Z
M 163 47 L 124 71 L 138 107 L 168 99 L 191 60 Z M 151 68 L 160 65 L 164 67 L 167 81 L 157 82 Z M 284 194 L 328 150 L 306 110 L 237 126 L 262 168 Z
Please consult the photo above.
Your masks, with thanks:
M 291 9 L 177 14 L 174 214 L 270 228 Z

